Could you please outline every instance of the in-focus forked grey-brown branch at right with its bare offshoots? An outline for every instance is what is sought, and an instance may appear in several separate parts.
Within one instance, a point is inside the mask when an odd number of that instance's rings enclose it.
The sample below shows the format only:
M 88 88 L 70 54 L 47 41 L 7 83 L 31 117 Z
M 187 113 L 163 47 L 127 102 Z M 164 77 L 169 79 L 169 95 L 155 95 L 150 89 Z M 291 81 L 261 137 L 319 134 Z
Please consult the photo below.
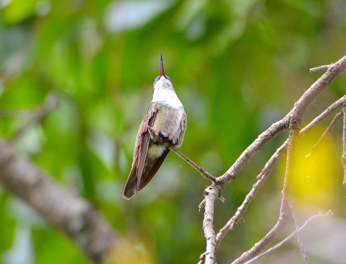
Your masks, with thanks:
M 213 183 L 212 186 L 215 186 L 217 191 L 219 193 L 222 193 L 224 188 L 227 186 L 227 184 L 235 178 L 235 176 L 239 173 L 241 169 L 244 168 L 244 166 L 247 164 L 247 162 L 262 149 L 262 147 L 270 141 L 272 138 L 274 138 L 277 134 L 281 133 L 284 130 L 290 130 L 289 139 L 281 146 L 279 149 L 276 150 L 272 158 L 267 162 L 265 168 L 261 171 L 261 174 L 257 176 L 257 182 L 254 184 L 252 191 L 246 196 L 245 201 L 243 202 L 242 206 L 238 208 L 238 211 L 232 217 L 225 227 L 223 227 L 220 232 L 218 233 L 216 240 L 215 240 L 215 248 L 211 248 L 214 245 L 214 240 L 212 240 L 212 243 L 209 242 L 209 237 L 212 237 L 215 232 L 212 228 L 212 221 L 205 221 L 206 215 L 208 215 L 210 212 L 213 214 L 213 203 L 215 202 L 216 195 L 205 195 L 205 199 L 202 201 L 202 203 L 199 205 L 199 208 L 201 209 L 203 205 L 206 206 L 206 213 L 204 214 L 204 221 L 203 221 L 203 229 L 205 236 L 207 238 L 207 251 L 203 253 L 200 256 L 200 262 L 199 263 L 215 263 L 215 258 L 210 257 L 210 254 L 213 256 L 215 255 L 216 249 L 220 244 L 220 241 L 222 238 L 226 235 L 226 233 L 233 229 L 235 225 L 243 220 L 243 215 L 247 209 L 248 204 L 251 202 L 251 200 L 255 197 L 258 189 L 263 185 L 265 179 L 270 174 L 276 160 L 278 157 L 287 151 L 287 163 L 286 163 L 286 173 L 285 173 L 285 179 L 284 179 L 284 187 L 282 191 L 282 203 L 281 203 L 281 209 L 280 209 L 280 217 L 277 221 L 276 225 L 273 227 L 273 229 L 263 238 L 261 241 L 255 244 L 255 246 L 250 249 L 248 252 L 243 253 L 242 256 L 240 256 L 238 259 L 236 259 L 233 263 L 244 263 L 246 261 L 249 261 L 254 256 L 258 255 L 261 250 L 263 250 L 269 243 L 271 243 L 279 234 L 281 234 L 285 228 L 288 226 L 289 221 L 289 211 L 292 212 L 292 217 L 295 221 L 296 231 L 294 232 L 294 235 L 297 237 L 298 245 L 300 247 L 302 256 L 304 259 L 308 259 L 309 253 L 307 250 L 304 249 L 302 240 L 301 240 L 301 234 L 299 228 L 299 221 L 297 217 L 297 213 L 295 212 L 291 197 L 292 197 L 292 177 L 293 177 L 293 168 L 294 168 L 294 156 L 295 151 L 297 147 L 298 139 L 306 134 L 309 130 L 311 130 L 313 127 L 315 127 L 321 120 L 323 120 L 326 116 L 328 116 L 332 111 L 334 111 L 337 107 L 340 107 L 340 103 L 345 103 L 345 96 L 338 100 L 336 103 L 331 105 L 324 113 L 322 113 L 319 117 L 315 118 L 306 128 L 304 128 L 302 131 L 300 131 L 302 116 L 306 112 L 307 108 L 310 104 L 312 104 L 316 98 L 322 93 L 323 90 L 325 90 L 331 82 L 334 81 L 334 79 L 343 71 L 346 69 L 346 56 L 340 59 L 335 64 L 330 65 L 324 65 L 322 67 L 317 67 L 314 69 L 311 69 L 311 72 L 317 71 L 317 70 L 327 70 L 326 73 L 324 73 L 303 95 L 302 97 L 294 104 L 294 107 L 290 113 L 288 113 L 282 120 L 279 122 L 276 122 L 273 124 L 269 129 L 267 129 L 265 132 L 263 132 L 258 138 L 240 155 L 240 157 L 236 160 L 235 164 L 230 167 L 230 169 L 222 176 L 218 177 L 219 180 L 217 183 Z M 345 108 L 343 111 L 346 110 Z M 344 152 L 346 153 L 346 118 L 344 113 Z M 346 155 L 344 155 L 345 157 Z M 343 164 L 345 165 L 345 158 L 342 159 Z M 344 184 L 346 186 L 346 166 L 344 166 L 345 169 L 345 177 L 344 177 Z M 220 180 L 224 180 L 222 184 L 220 184 Z M 208 187 L 210 188 L 210 187 Z M 207 190 L 207 189 L 206 189 Z M 207 209 L 207 204 L 210 206 Z M 207 214 L 207 211 L 209 211 L 209 214 Z M 212 218 L 211 218 L 212 219 Z M 210 219 L 209 219 L 210 220 Z M 210 228 L 210 231 L 208 234 L 206 234 L 206 226 L 204 225 L 206 223 L 208 227 Z M 208 236 L 207 236 L 208 235 Z

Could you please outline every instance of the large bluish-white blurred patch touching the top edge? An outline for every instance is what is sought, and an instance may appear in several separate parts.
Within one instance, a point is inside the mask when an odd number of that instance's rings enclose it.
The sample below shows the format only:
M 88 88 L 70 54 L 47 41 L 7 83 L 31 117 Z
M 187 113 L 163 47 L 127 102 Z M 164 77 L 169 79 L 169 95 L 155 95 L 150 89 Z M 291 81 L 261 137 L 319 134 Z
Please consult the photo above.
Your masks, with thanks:
M 111 32 L 138 28 L 172 6 L 174 1 L 111 2 L 106 10 L 105 24 Z

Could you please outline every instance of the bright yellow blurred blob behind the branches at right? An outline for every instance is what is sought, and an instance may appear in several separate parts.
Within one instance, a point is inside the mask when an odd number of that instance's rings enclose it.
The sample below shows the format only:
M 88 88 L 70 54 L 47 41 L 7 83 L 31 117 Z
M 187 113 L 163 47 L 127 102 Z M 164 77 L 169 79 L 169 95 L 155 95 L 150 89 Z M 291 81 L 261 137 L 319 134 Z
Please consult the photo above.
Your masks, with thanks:
M 330 208 L 337 199 L 336 184 L 342 184 L 343 179 L 342 175 L 336 175 L 337 166 L 341 165 L 331 135 L 328 135 L 310 153 L 323 132 L 324 130 L 315 129 L 299 140 L 295 156 L 292 193 L 302 203 Z M 282 175 L 284 175 L 286 163 L 283 162 L 283 165 Z

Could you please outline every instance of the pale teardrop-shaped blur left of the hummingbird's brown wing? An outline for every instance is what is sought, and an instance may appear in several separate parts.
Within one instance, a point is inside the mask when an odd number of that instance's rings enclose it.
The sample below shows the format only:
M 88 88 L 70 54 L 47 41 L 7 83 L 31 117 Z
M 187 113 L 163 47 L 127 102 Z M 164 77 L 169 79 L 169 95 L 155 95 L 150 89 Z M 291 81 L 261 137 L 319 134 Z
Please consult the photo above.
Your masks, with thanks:
M 93 133 L 88 138 L 90 149 L 111 170 L 114 164 L 116 146 L 113 140 L 102 133 Z

